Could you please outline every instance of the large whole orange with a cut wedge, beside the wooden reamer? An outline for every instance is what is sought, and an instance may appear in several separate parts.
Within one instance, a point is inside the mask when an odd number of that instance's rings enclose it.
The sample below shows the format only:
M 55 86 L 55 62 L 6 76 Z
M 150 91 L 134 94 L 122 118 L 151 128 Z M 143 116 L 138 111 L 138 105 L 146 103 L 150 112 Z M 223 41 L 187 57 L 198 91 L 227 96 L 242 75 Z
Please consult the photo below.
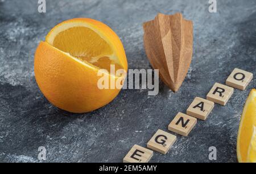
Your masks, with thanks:
M 110 71 L 115 65 L 115 71 Z M 124 79 L 127 71 L 123 45 L 104 23 L 88 18 L 70 19 L 55 26 L 35 53 L 35 78 L 44 96 L 65 111 L 90 112 L 112 101 L 120 88 L 98 87 L 101 74 L 109 82 Z M 102 70 L 105 69 L 106 71 Z

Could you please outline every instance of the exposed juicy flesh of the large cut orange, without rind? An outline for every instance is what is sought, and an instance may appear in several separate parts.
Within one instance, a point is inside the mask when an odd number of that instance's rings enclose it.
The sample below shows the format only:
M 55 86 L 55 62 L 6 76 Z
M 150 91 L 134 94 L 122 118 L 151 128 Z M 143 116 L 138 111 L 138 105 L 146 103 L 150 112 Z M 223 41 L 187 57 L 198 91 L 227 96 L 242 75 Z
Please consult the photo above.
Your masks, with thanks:
M 72 27 L 57 34 L 53 46 L 79 60 L 89 62 L 110 73 L 110 65 L 115 65 L 115 71 L 123 69 L 119 63 L 110 60 L 113 51 L 104 39 L 87 27 Z

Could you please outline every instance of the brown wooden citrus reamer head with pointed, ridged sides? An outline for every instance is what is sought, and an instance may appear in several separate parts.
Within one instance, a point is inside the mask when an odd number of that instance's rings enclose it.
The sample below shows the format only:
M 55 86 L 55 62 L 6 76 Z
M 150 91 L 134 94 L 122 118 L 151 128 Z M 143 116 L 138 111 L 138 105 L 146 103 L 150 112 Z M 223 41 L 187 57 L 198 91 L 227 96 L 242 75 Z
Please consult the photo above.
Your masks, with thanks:
M 159 77 L 172 90 L 179 90 L 193 54 L 193 24 L 175 15 L 158 14 L 143 24 L 144 48 Z

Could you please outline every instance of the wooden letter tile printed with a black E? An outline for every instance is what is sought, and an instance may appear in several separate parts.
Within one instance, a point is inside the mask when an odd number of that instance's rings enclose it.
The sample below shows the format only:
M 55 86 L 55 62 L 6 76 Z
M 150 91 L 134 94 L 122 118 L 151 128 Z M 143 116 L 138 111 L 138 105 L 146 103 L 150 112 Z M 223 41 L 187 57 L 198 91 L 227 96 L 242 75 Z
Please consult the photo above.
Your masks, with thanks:
M 134 145 L 125 158 L 123 158 L 123 163 L 147 163 L 152 156 L 152 150 Z

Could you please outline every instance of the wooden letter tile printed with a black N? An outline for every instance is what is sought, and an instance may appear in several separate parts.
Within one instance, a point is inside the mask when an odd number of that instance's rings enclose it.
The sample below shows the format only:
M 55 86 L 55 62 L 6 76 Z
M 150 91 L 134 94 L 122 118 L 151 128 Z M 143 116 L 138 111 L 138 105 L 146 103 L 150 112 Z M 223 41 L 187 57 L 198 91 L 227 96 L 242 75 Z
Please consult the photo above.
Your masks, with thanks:
M 168 130 L 187 137 L 190 131 L 196 125 L 196 122 L 196 118 L 179 112 L 174 120 L 172 120 L 172 122 L 169 124 Z

